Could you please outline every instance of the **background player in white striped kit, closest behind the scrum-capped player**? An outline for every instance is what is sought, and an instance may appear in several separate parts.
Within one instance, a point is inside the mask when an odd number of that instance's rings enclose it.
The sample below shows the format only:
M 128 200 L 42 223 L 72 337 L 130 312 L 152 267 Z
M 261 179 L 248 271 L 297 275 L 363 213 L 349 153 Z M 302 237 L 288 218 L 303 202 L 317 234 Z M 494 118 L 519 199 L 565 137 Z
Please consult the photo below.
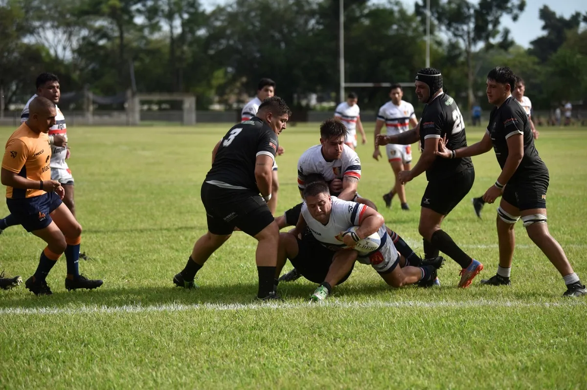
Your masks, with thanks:
M 392 99 L 379 108 L 377 114 L 377 121 L 375 122 L 375 139 L 381 133 L 383 125 L 386 126 L 387 135 L 401 134 L 412 127 L 416 127 L 418 121 L 416 114 L 414 114 L 414 106 L 407 101 L 403 101 L 403 89 L 400 84 L 393 84 L 389 97 Z M 387 152 L 387 160 L 392 166 L 393 175 L 395 176 L 395 183 L 389 193 L 383 195 L 386 207 L 392 206 L 392 199 L 397 194 L 402 203 L 402 210 L 410 210 L 406 200 L 406 189 L 404 184 L 397 179 L 400 172 L 403 170 L 410 170 L 411 163 L 411 145 L 392 145 L 385 146 Z M 381 152 L 379 145 L 375 144 L 375 152 L 373 158 L 379 160 Z

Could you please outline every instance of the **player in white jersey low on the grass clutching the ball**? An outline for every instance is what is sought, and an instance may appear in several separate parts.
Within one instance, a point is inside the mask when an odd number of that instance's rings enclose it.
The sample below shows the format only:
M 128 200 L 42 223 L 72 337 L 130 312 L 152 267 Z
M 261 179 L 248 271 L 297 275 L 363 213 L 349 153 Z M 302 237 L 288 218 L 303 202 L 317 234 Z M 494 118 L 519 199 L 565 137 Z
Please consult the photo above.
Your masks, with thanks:
M 311 300 L 324 300 L 336 286 L 346 280 L 352 272 L 356 261 L 370 264 L 393 287 L 417 283 L 420 280 L 434 280 L 436 267 L 406 266 L 400 268 L 396 248 L 387 234 L 383 216 L 365 204 L 340 200 L 330 196 L 326 183 L 308 184 L 303 196 L 305 203 L 296 228 L 292 232 L 279 235 L 279 250 L 276 275 L 279 275 L 286 259 L 298 269 L 306 279 L 321 283 L 313 293 Z M 302 234 L 309 228 L 321 247 L 313 245 L 308 235 Z M 349 228 L 356 231 L 348 232 Z M 371 252 L 352 250 L 357 242 L 376 234 L 379 247 Z M 437 265 L 441 266 L 440 264 Z

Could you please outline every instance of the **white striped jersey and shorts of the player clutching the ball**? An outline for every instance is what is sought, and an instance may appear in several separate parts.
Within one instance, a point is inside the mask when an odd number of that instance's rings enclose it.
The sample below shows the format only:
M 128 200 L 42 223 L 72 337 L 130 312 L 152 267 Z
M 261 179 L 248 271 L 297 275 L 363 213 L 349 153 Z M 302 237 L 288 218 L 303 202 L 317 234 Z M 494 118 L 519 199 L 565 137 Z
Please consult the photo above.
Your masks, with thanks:
M 313 237 L 326 248 L 336 251 L 347 248 L 342 238 L 340 238 L 340 233 L 353 226 L 359 226 L 363 222 L 368 206 L 338 199 L 336 196 L 330 196 L 330 199 L 332 199 L 332 209 L 330 210 L 328 224 L 323 225 L 321 222 L 316 221 L 310 214 L 305 202 L 302 204 L 302 216 Z M 377 234 L 381 240 L 379 248 L 369 255 L 359 256 L 357 261 L 361 264 L 372 265 L 377 272 L 384 272 L 393 266 L 399 255 L 393 241 L 387 235 L 385 224 L 377 230 Z

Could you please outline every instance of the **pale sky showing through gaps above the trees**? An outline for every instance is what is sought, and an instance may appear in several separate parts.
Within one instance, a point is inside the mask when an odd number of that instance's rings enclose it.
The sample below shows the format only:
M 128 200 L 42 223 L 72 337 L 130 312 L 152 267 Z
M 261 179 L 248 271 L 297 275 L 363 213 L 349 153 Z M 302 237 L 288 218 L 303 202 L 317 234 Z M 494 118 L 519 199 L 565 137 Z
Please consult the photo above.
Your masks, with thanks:
M 225 4 L 230 0 L 202 0 L 205 8 L 213 8 L 217 4 Z M 386 2 L 386 0 L 372 0 Z M 416 0 L 402 0 L 409 9 L 414 9 Z M 542 35 L 542 20 L 538 19 L 538 10 L 542 5 L 548 5 L 558 15 L 568 18 L 573 12 L 587 12 L 587 0 L 527 0 L 526 9 L 518 18 L 517 22 L 512 22 L 508 16 L 502 20 L 502 26 L 507 26 L 512 32 L 512 36 L 518 45 L 528 47 L 530 42 L 536 37 Z

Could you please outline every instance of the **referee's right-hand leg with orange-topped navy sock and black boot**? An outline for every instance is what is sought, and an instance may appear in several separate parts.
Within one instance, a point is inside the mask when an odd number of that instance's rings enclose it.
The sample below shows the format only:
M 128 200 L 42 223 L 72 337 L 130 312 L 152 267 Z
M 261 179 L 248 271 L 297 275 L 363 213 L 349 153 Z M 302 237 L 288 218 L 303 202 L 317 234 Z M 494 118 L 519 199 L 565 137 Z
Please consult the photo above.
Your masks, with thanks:
M 68 291 L 77 289 L 92 290 L 102 286 L 102 280 L 88 279 L 79 273 L 79 249 L 82 242 L 82 226 L 77 222 L 69 207 L 65 203 L 61 203 L 50 215 L 65 237 L 65 261 L 67 265 L 65 288 Z

